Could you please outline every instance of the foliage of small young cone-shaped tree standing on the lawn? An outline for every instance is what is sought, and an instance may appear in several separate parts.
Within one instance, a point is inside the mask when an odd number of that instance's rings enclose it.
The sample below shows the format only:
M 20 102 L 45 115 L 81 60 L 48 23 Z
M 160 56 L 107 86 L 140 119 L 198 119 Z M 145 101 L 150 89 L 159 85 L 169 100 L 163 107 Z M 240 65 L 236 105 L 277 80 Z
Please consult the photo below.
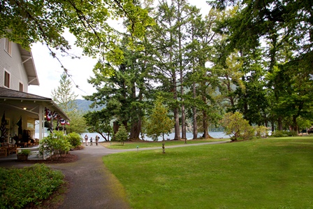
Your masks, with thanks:
M 147 136 L 152 136 L 155 140 L 159 136 L 165 140 L 164 135 L 170 134 L 174 126 L 174 121 L 168 117 L 168 108 L 163 106 L 162 101 L 163 98 L 159 96 L 146 124 Z

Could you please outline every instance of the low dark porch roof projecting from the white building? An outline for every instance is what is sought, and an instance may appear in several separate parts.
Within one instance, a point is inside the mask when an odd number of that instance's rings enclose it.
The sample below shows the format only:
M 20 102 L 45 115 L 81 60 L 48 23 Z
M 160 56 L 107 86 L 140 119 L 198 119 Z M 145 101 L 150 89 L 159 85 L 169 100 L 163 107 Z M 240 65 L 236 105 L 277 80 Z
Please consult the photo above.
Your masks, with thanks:
M 0 106 L 6 106 L 7 108 L 17 108 L 25 110 L 28 113 L 32 113 L 33 117 L 36 117 L 39 113 L 38 104 L 41 103 L 50 110 L 55 110 L 64 120 L 70 120 L 68 116 L 57 106 L 52 99 L 44 96 L 38 96 L 35 94 L 29 94 L 26 92 L 19 92 L 6 87 L 0 87 Z

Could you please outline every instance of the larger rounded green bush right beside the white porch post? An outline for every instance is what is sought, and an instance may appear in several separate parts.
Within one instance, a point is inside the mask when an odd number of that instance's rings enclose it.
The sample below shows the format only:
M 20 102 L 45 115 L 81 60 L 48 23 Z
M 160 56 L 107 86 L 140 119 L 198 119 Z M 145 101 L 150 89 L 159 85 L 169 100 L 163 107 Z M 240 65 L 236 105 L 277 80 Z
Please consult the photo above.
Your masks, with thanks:
M 71 149 L 71 143 L 64 136 L 63 131 L 54 131 L 53 134 L 46 136 L 39 144 L 39 152 L 43 154 L 62 154 L 68 153 Z

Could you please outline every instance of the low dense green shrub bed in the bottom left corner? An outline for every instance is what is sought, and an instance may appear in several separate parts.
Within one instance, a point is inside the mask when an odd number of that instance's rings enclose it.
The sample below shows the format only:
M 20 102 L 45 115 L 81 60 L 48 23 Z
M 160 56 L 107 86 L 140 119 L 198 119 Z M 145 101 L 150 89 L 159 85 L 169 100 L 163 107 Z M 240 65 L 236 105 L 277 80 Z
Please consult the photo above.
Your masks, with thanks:
M 64 183 L 61 171 L 45 164 L 17 168 L 0 168 L 0 208 L 24 208 L 38 205 Z

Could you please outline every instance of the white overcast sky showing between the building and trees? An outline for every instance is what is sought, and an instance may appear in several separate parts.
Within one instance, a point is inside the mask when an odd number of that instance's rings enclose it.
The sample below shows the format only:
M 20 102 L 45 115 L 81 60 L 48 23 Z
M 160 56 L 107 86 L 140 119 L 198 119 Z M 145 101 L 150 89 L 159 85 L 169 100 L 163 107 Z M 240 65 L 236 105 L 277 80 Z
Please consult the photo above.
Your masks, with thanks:
M 201 8 L 201 13 L 204 15 L 210 10 L 206 0 L 188 1 L 191 5 Z M 65 34 L 65 38 L 70 41 L 72 45 L 71 54 L 81 57 L 82 50 L 73 45 L 75 41 L 74 36 Z M 59 80 L 61 79 L 61 74 L 64 72 L 64 69 L 61 68 L 61 64 L 59 64 L 57 59 L 50 55 L 48 48 L 41 43 L 33 44 L 31 46 L 31 53 L 33 55 L 40 85 L 30 85 L 28 92 L 30 94 L 51 98 L 51 92 L 59 86 Z M 96 64 L 96 59 L 92 59 L 91 57 L 81 57 L 80 59 L 71 59 L 71 57 L 58 58 L 68 70 L 68 74 L 71 75 L 73 83 L 72 89 L 74 94 L 78 95 L 77 99 L 83 99 L 82 96 L 91 95 L 96 92 L 96 89 L 87 82 L 87 79 L 93 76 L 92 69 L 94 68 L 94 64 Z M 75 87 L 76 85 L 78 85 L 78 88 Z

